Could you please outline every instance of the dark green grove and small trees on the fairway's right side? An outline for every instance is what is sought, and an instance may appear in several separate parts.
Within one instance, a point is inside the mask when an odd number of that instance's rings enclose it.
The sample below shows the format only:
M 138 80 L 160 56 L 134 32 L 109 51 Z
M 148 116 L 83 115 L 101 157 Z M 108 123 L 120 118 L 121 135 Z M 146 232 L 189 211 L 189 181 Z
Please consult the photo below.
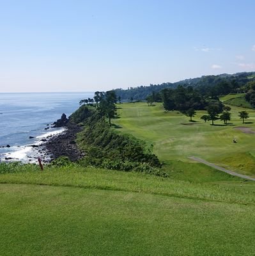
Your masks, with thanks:
M 249 88 L 249 91 L 246 94 L 249 95 L 249 99 L 254 100 L 255 104 L 255 81 L 250 81 L 245 84 L 246 88 Z M 226 83 L 220 83 L 215 88 L 225 88 L 224 92 L 228 92 L 228 85 Z M 220 90 L 220 89 L 219 89 Z M 216 91 L 215 91 L 216 92 Z M 223 91 L 222 91 L 223 92 Z M 199 89 L 192 86 L 178 86 L 176 89 L 165 88 L 161 92 L 153 92 L 151 95 L 146 97 L 148 106 L 152 106 L 153 102 L 160 101 L 162 99 L 163 106 L 167 111 L 178 110 L 185 115 L 190 117 L 192 122 L 192 117 L 196 115 L 196 110 L 206 109 L 208 114 L 201 116 L 202 120 L 212 121 L 212 125 L 215 120 L 222 120 L 224 124 L 228 124 L 231 120 L 231 113 L 229 112 L 231 108 L 229 106 L 224 106 L 217 97 L 217 93 L 207 93 L 203 95 Z M 247 111 L 241 111 L 239 113 L 240 118 L 244 119 L 249 118 L 249 113 Z

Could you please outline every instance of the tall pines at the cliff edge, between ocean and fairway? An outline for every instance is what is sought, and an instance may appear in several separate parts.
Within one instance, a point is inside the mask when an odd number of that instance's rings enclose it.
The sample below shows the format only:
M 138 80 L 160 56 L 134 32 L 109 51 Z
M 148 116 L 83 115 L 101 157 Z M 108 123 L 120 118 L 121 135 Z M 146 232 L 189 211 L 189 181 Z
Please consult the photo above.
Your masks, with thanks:
M 119 97 L 120 100 L 120 97 Z M 95 104 L 93 104 L 95 102 Z M 80 101 L 80 105 L 95 106 L 98 109 L 101 119 L 107 118 L 109 120 L 109 125 L 111 125 L 111 119 L 115 118 L 117 115 L 117 97 L 116 93 L 111 90 L 107 92 L 95 92 L 93 99 L 83 99 Z

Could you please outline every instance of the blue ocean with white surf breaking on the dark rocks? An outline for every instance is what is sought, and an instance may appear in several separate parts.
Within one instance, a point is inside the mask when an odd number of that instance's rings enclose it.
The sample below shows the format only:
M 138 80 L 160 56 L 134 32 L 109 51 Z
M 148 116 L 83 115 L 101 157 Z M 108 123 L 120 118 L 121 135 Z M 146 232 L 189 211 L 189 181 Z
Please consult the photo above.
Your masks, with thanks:
M 70 116 L 81 99 L 93 96 L 93 92 L 0 93 L 0 161 L 29 163 L 35 151 L 29 145 L 40 145 L 42 138 L 63 132 L 50 124 L 63 113 Z

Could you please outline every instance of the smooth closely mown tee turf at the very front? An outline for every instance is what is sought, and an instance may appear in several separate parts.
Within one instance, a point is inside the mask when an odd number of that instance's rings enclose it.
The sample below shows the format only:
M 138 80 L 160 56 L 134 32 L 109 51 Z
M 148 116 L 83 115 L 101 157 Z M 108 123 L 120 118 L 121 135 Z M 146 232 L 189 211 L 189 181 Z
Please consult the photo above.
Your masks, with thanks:
M 0 185 L 1 255 L 253 255 L 255 207 Z

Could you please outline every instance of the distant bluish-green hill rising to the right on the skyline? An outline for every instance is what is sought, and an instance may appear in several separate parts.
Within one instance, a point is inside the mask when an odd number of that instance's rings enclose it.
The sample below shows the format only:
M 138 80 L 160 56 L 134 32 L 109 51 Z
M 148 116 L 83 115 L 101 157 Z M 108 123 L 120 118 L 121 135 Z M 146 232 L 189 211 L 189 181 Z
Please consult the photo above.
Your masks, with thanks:
M 115 89 L 117 97 L 121 100 L 144 100 L 152 92 L 160 92 L 164 88 L 177 88 L 179 85 L 184 87 L 192 86 L 197 88 L 201 93 L 206 93 L 219 84 L 226 84 L 231 92 L 242 92 L 242 87 L 249 81 L 255 81 L 255 72 L 242 72 L 236 74 L 220 74 L 217 76 L 202 76 L 189 78 L 176 83 L 150 84 L 149 86 L 130 87 L 127 90 L 121 88 Z M 224 93 L 224 92 L 223 92 Z

